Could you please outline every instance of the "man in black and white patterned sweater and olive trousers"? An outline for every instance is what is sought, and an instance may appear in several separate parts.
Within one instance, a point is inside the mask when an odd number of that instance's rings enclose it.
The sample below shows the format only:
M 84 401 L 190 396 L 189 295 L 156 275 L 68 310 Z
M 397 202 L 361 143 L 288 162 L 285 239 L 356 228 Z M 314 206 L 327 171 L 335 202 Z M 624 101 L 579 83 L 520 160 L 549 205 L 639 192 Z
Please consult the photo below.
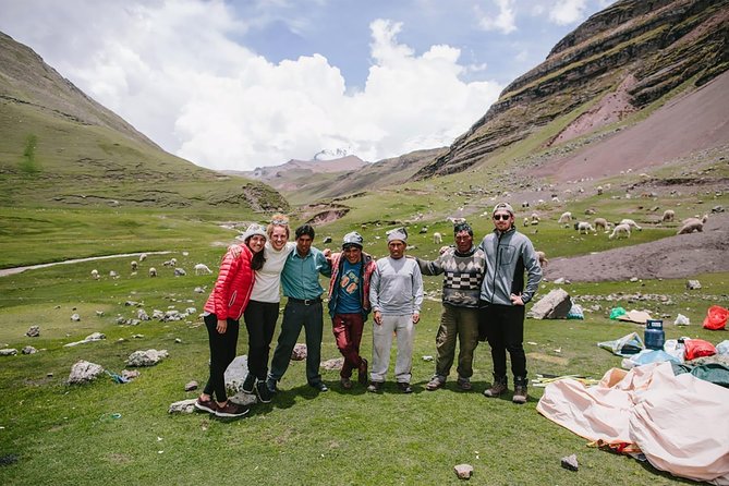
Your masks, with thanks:
M 437 390 L 446 382 L 453 365 L 455 339 L 459 340 L 458 380 L 462 390 L 471 390 L 473 352 L 478 345 L 478 295 L 484 279 L 486 258 L 473 245 L 473 230 L 466 222 L 453 227 L 455 247 L 447 248 L 436 260 L 416 258 L 423 275 L 445 274 L 442 312 L 436 336 L 436 373 L 426 385 Z

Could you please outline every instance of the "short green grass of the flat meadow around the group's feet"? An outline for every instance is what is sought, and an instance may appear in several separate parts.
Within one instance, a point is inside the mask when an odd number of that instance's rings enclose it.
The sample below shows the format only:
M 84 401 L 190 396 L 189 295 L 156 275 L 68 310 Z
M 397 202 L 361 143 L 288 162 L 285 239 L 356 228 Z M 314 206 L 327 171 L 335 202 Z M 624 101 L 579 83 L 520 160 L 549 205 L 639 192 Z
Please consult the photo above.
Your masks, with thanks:
M 106 243 L 99 245 L 111 250 Z M 222 248 L 210 246 L 207 253 L 199 252 L 189 256 L 178 253 L 180 265 L 191 268 L 198 256 L 206 255 L 212 268 Z M 168 257 L 150 255 L 136 276 L 125 266 L 131 258 L 121 258 L 0 278 L 0 343 L 19 350 L 32 344 L 41 350 L 1 359 L 0 457 L 17 457 L 16 463 L 0 467 L 2 484 L 118 484 L 123 477 L 125 484 L 154 481 L 178 485 L 244 475 L 253 484 L 326 481 L 440 485 L 460 483 L 452 467 L 464 462 L 474 466 L 471 482 L 475 484 L 621 484 L 625 478 L 636 484 L 682 482 L 627 457 L 587 448 L 584 439 L 535 412 L 542 394 L 538 388 L 530 389 L 532 398 L 524 406 L 513 405 L 509 398 L 485 399 L 481 391 L 490 381 L 491 370 L 486 344 L 476 350 L 474 392 L 459 392 L 452 379 L 444 390 L 425 391 L 433 363 L 421 356 L 435 354 L 440 303 L 434 301 L 426 301 L 423 320 L 417 325 L 412 396 L 398 393 L 392 382 L 384 394 L 366 393 L 359 386 L 344 392 L 337 386 L 337 372 L 323 372 L 331 390 L 317 394 L 305 386 L 304 363 L 294 362 L 281 381 L 282 392 L 271 404 L 254 406 L 248 417 L 223 422 L 204 414 L 169 415 L 170 403 L 195 397 L 195 392 L 183 390 L 184 385 L 191 379 L 204 384 L 207 377 L 207 335 L 201 319 L 116 324 L 118 316 L 136 315 L 136 307 L 125 306 L 126 301 L 142 302 L 148 313 L 170 306 L 202 311 L 207 292 L 193 290 L 209 289 L 215 276 L 189 272 L 187 277 L 172 277 L 171 269 L 161 267 L 161 260 Z M 163 270 L 160 277 L 146 277 L 148 265 Z M 99 281 L 89 278 L 93 267 L 101 272 Z M 111 268 L 121 274 L 119 279 L 108 278 Z M 607 314 L 612 305 L 647 307 L 671 316 L 681 312 L 692 325 L 676 328 L 669 324 L 671 319 L 666 319 L 667 338 L 687 335 L 718 342 L 724 332 L 703 330 L 700 323 L 709 305 L 728 305 L 729 275 L 696 277 L 703 289 L 691 293 L 684 290 L 683 279 L 635 287 L 567 287 L 578 302 L 585 306 L 598 303 L 602 309 L 587 312 L 584 321 L 527 320 L 531 376 L 580 373 L 599 378 L 610 367 L 619 366 L 620 359 L 599 350 L 596 343 L 632 330 L 640 332 L 641 328 L 610 321 Z M 440 284 L 439 278 L 426 278 L 428 290 Z M 544 284 L 540 292 L 550 288 Z M 628 295 L 637 291 L 667 294 L 670 302 L 630 303 Z M 617 292 L 622 292 L 625 300 L 605 300 Z M 588 303 L 581 300 L 585 295 L 590 296 Z M 97 316 L 97 311 L 104 315 Z M 74 312 L 81 315 L 80 323 L 71 321 Z M 40 326 L 39 338 L 24 336 L 32 325 Z M 325 318 L 325 360 L 339 356 L 328 329 Z M 107 339 L 63 347 L 94 331 L 106 333 Z M 144 338 L 133 339 L 136 333 Z M 245 353 L 246 342 L 247 336 L 242 332 L 239 354 Z M 78 360 L 119 373 L 129 354 L 150 348 L 167 349 L 170 357 L 155 367 L 142 368 L 142 376 L 130 384 L 116 385 L 106 377 L 88 386 L 64 384 Z M 367 327 L 363 355 L 370 354 L 372 332 Z M 121 417 L 114 418 L 113 414 Z M 560 467 L 560 458 L 571 453 L 578 454 L 579 473 Z

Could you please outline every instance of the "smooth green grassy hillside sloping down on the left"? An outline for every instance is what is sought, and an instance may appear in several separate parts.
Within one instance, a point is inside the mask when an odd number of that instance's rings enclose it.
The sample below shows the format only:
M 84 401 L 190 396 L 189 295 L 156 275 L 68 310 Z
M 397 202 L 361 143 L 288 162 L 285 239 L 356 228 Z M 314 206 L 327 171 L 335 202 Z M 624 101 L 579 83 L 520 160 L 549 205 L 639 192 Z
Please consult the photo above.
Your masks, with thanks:
M 163 151 L 2 33 L 0 205 L 288 207 L 260 182 Z

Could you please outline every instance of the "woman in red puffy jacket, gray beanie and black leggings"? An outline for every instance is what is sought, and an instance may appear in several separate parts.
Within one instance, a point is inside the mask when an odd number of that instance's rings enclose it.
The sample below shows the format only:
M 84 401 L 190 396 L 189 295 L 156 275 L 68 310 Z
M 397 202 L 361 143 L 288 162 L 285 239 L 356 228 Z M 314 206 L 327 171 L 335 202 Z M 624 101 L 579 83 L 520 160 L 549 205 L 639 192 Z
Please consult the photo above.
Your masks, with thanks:
M 226 393 L 226 368 L 235 359 L 240 319 L 245 311 L 255 270 L 263 267 L 266 229 L 251 224 L 246 230 L 239 252 L 226 253 L 212 292 L 205 304 L 204 320 L 210 339 L 210 377 L 195 408 L 221 417 L 245 415 L 247 406 L 228 400 Z M 215 400 L 212 397 L 215 396 Z

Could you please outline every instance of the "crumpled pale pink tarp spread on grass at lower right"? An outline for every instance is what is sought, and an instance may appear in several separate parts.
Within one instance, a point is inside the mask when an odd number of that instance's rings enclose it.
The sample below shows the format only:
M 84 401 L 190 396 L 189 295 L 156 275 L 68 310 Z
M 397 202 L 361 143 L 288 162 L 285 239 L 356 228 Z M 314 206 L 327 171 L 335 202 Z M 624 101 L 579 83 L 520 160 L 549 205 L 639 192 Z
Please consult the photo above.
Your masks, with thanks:
M 555 381 L 536 410 L 592 441 L 635 445 L 656 469 L 729 485 L 729 389 L 669 363 L 613 368 L 592 388 Z

